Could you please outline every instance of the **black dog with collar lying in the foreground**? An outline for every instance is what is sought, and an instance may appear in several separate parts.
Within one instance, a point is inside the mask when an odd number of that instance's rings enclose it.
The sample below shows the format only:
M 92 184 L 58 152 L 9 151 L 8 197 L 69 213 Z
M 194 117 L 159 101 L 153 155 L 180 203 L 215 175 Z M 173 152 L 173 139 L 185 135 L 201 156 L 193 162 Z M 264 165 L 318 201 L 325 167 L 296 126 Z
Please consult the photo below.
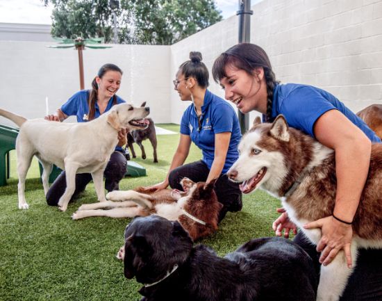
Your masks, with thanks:
M 144 284 L 141 301 L 314 301 L 317 275 L 301 247 L 258 238 L 217 257 L 192 246 L 176 221 L 135 218 L 125 231 L 124 275 Z

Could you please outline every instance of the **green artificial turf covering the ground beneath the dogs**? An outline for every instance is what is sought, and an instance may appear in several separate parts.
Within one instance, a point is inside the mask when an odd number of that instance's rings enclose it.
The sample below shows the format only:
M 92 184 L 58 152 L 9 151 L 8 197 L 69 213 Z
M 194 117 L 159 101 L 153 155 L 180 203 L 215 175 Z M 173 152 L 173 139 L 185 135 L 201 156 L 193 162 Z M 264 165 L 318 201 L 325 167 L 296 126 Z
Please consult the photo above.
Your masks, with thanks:
M 175 124 L 158 124 L 172 131 Z M 159 163 L 153 163 L 152 148 L 144 141 L 147 159 L 134 161 L 147 169 L 147 177 L 125 178 L 123 190 L 162 181 L 167 174 L 179 135 L 158 136 Z M 192 145 L 187 162 L 201 158 Z M 28 210 L 17 206 L 15 152 L 11 152 L 11 178 L 0 187 L 0 301 L 24 300 L 140 300 L 135 280 L 127 280 L 123 263 L 115 258 L 124 243 L 128 219 L 86 218 L 71 215 L 83 203 L 97 202 L 89 184 L 65 213 L 47 206 L 40 184 L 38 163 L 33 160 L 26 181 Z M 273 236 L 272 221 L 279 201 L 263 191 L 244 195 L 243 210 L 228 213 L 219 231 L 198 243 L 205 243 L 224 255 L 251 238 Z

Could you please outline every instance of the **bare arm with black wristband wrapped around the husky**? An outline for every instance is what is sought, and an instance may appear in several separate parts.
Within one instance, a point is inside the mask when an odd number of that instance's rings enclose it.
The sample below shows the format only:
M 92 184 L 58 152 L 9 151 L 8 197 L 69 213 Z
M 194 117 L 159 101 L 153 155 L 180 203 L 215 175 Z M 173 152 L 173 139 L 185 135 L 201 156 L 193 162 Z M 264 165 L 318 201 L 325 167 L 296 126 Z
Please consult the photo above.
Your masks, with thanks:
M 320 143 L 335 152 L 337 193 L 333 215 L 340 220 L 352 222 L 369 171 L 372 143 L 363 131 L 337 110 L 328 111 L 319 117 L 315 122 L 314 133 Z M 329 264 L 343 249 L 347 264 L 351 267 L 351 225 L 329 216 L 304 226 L 306 229 L 317 227 L 322 228 L 322 238 L 317 244 L 317 251 L 322 252 L 319 262 L 324 266 Z

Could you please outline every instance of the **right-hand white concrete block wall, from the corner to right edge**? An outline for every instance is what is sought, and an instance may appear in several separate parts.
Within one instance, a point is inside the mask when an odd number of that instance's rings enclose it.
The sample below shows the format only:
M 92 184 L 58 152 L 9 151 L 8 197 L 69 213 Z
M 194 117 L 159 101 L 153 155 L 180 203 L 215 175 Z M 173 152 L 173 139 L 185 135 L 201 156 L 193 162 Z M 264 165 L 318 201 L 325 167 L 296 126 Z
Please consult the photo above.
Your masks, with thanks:
M 251 42 L 267 51 L 282 83 L 328 90 L 354 112 L 382 103 L 381 0 L 264 0 L 251 9 Z M 236 16 L 210 26 L 172 45 L 171 69 L 176 72 L 191 50 L 201 51 L 210 68 L 237 37 Z M 224 97 L 215 84 L 210 90 Z M 183 111 L 176 96 L 172 122 Z M 256 115 L 250 113 L 250 122 Z

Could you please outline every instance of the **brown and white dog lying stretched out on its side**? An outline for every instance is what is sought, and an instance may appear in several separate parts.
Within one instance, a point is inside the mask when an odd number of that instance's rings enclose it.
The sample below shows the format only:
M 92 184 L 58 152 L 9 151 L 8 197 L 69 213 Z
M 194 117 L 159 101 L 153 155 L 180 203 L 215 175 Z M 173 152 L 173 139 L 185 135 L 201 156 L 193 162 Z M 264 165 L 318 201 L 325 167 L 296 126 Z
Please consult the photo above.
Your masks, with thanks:
M 184 178 L 181 181 L 184 192 L 169 189 L 149 191 L 142 187 L 127 191 L 114 190 L 106 195 L 109 201 L 83 204 L 72 218 L 133 218 L 155 214 L 167 220 L 178 220 L 195 241 L 217 230 L 222 204 L 217 201 L 213 189 L 215 181 L 194 183 Z

